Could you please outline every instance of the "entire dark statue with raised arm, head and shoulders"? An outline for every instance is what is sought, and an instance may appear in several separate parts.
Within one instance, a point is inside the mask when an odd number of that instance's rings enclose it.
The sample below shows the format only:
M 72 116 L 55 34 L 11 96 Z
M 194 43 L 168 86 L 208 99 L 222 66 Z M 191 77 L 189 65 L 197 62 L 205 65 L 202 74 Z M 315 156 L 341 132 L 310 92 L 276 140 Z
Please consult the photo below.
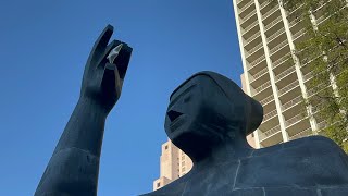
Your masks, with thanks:
M 112 32 L 109 25 L 94 46 L 79 100 L 36 196 L 97 195 L 104 122 L 120 98 L 132 53 L 124 42 L 108 45 Z M 194 168 L 146 195 L 348 195 L 348 158 L 334 142 L 312 136 L 253 149 L 246 135 L 262 118 L 262 106 L 227 77 L 192 75 L 170 98 L 165 132 Z

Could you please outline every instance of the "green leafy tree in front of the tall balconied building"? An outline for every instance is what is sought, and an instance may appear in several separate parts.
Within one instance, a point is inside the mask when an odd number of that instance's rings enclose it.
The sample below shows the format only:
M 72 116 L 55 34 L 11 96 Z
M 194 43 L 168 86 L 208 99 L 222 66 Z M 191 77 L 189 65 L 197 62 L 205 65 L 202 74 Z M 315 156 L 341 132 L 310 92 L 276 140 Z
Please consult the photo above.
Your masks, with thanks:
M 271 0 L 278 3 L 277 0 Z M 306 39 L 295 46 L 294 60 L 307 64 L 313 78 L 308 85 L 307 106 L 320 130 L 348 152 L 348 1 L 279 0 L 289 20 L 297 20 Z

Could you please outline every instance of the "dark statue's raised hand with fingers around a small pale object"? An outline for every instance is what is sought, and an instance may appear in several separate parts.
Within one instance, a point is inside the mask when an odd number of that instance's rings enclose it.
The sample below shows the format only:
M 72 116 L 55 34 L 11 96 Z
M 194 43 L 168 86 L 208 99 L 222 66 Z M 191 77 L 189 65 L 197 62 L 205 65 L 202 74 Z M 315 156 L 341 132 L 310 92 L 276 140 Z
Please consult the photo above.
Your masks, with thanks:
M 97 39 L 85 66 L 80 91 L 80 99 L 91 99 L 107 112 L 121 96 L 132 53 L 132 48 L 119 40 L 108 45 L 112 33 L 113 27 L 108 25 Z M 110 63 L 108 56 L 117 46 L 122 47 L 119 56 Z

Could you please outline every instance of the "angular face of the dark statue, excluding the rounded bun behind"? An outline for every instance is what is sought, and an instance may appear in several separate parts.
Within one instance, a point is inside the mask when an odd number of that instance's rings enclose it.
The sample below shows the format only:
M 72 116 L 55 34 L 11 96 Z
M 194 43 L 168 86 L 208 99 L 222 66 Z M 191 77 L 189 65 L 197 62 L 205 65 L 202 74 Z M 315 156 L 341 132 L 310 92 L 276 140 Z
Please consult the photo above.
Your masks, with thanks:
M 229 106 L 231 101 L 213 79 L 197 75 L 172 95 L 165 132 L 176 146 L 188 137 L 194 142 L 219 139 L 225 134 L 227 117 L 232 117 Z

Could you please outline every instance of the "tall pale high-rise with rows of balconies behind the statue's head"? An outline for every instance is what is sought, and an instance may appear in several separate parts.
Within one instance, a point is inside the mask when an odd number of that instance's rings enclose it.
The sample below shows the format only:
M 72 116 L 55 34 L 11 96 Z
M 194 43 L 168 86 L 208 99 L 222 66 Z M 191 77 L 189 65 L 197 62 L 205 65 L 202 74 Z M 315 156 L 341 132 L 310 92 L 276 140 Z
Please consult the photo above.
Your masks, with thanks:
M 288 13 L 271 0 L 233 0 L 233 4 L 243 86 L 264 109 L 263 122 L 253 133 L 256 147 L 315 134 L 325 122 L 302 103 L 303 98 L 313 95 L 308 88 L 311 70 L 291 56 L 295 45 L 308 38 L 301 21 L 296 19 L 299 9 Z M 313 15 L 313 20 L 320 25 L 323 17 Z

